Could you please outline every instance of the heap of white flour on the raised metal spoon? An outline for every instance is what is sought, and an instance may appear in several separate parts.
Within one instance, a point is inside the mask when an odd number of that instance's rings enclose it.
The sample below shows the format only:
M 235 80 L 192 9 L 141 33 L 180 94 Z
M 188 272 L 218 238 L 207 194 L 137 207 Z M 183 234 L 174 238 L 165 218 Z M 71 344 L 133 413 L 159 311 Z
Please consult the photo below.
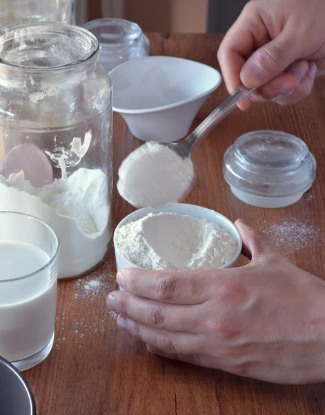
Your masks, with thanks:
M 136 208 L 177 202 L 195 176 L 190 158 L 181 158 L 158 142 L 146 142 L 119 168 L 119 194 Z

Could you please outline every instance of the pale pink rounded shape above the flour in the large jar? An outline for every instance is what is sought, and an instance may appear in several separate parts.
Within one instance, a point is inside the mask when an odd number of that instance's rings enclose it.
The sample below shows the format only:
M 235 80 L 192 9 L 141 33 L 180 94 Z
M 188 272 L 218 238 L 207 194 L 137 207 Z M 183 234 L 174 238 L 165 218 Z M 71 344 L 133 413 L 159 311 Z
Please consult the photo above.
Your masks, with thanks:
M 5 174 L 23 172 L 25 179 L 34 187 L 50 185 L 53 181 L 52 165 L 36 145 L 24 143 L 14 147 L 6 157 Z

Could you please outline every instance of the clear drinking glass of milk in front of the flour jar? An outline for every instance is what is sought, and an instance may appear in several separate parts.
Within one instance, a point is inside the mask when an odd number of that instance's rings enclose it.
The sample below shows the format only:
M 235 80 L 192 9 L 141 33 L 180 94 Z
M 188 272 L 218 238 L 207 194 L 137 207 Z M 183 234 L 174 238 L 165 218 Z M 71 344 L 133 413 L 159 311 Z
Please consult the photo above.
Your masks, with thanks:
M 0 212 L 0 356 L 20 371 L 50 353 L 60 241 L 46 222 Z

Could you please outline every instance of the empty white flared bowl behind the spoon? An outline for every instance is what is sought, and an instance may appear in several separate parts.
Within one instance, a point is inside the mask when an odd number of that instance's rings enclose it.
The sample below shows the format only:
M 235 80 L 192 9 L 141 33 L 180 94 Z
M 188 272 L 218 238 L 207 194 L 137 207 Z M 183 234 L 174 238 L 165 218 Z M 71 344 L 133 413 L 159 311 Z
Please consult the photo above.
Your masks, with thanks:
M 186 136 L 197 111 L 221 84 L 214 68 L 169 56 L 125 62 L 110 78 L 113 110 L 144 141 L 173 142 Z

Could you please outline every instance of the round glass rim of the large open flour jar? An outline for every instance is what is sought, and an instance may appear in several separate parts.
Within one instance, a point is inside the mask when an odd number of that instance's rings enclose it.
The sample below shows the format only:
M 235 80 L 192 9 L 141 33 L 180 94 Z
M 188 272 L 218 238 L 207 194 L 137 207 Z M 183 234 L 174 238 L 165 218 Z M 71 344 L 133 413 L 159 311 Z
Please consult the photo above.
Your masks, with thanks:
M 17 30 L 21 30 L 22 33 L 25 31 L 25 36 L 27 37 L 28 28 L 32 30 L 33 28 L 37 30 L 38 35 L 42 33 L 55 33 L 55 34 L 61 34 L 66 35 L 68 37 L 68 34 L 75 34 L 79 35 L 80 37 L 83 37 L 83 39 L 88 40 L 87 48 L 88 50 L 86 53 L 81 55 L 79 59 L 71 59 L 70 62 L 58 64 L 58 65 L 51 65 L 51 66 L 33 66 L 33 65 L 23 65 L 23 64 L 17 64 L 14 62 L 10 62 L 7 59 L 3 59 L 0 57 L 0 66 L 9 66 L 10 68 L 14 68 L 20 71 L 58 71 L 60 69 L 67 69 L 72 68 L 74 66 L 77 66 L 81 63 L 86 63 L 92 60 L 98 53 L 99 53 L 99 42 L 95 35 L 90 33 L 88 30 L 84 28 L 80 28 L 79 26 L 72 26 L 69 24 L 64 24 L 57 21 L 33 21 L 33 22 L 25 22 L 25 23 L 19 23 L 14 24 L 12 26 L 8 26 L 6 28 L 3 28 L 0 30 L 0 50 L 3 48 L 3 42 L 5 42 L 8 39 L 14 39 L 17 35 L 15 35 L 15 32 L 17 33 Z

